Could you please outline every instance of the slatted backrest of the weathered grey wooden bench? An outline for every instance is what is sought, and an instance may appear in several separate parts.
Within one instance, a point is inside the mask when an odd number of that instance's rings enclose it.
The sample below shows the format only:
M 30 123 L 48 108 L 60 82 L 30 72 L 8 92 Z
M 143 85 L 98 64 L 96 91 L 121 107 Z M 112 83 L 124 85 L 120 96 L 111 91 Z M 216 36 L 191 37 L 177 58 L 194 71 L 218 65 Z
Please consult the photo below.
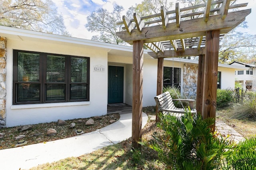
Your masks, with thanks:
M 154 97 L 156 101 L 156 106 L 158 109 L 176 109 L 174 103 L 172 101 L 172 96 L 170 92 L 164 92 L 156 97 Z

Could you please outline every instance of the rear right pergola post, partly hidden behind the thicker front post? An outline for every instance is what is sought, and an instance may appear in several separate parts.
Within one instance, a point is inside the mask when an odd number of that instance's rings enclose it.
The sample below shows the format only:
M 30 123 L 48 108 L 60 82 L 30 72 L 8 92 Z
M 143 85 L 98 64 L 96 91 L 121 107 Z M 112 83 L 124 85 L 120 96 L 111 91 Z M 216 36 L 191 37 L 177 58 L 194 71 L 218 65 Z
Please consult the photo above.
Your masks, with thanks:
M 196 88 L 196 111 L 201 115 L 202 115 L 202 107 L 203 107 L 203 90 L 204 90 L 204 57 L 205 55 L 199 55 L 197 88 Z

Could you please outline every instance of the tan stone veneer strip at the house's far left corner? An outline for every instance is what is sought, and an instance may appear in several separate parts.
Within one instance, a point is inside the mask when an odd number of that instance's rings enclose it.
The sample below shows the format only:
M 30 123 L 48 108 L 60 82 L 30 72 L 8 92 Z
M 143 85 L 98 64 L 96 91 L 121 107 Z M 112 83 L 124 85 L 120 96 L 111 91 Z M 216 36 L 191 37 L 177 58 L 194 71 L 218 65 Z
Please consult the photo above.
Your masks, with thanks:
M 7 39 L 0 37 L 0 129 L 6 127 L 6 45 Z

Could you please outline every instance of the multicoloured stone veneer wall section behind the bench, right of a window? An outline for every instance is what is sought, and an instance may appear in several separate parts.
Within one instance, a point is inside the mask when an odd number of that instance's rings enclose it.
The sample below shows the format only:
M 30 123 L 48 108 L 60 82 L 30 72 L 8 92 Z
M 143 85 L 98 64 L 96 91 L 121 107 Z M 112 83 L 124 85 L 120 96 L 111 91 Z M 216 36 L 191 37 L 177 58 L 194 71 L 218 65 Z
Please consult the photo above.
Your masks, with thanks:
M 198 66 L 186 63 L 183 70 L 183 95 L 187 99 L 196 99 Z

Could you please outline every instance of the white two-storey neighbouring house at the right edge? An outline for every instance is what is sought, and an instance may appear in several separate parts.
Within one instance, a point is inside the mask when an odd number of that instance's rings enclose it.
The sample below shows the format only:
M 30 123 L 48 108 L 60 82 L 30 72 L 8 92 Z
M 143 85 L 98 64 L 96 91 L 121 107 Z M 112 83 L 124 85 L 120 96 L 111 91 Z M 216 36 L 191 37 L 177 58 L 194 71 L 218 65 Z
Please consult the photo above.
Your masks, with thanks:
M 243 88 L 256 91 L 256 65 L 237 61 L 230 65 L 244 67 L 244 70 L 235 71 L 235 81 L 241 84 Z

